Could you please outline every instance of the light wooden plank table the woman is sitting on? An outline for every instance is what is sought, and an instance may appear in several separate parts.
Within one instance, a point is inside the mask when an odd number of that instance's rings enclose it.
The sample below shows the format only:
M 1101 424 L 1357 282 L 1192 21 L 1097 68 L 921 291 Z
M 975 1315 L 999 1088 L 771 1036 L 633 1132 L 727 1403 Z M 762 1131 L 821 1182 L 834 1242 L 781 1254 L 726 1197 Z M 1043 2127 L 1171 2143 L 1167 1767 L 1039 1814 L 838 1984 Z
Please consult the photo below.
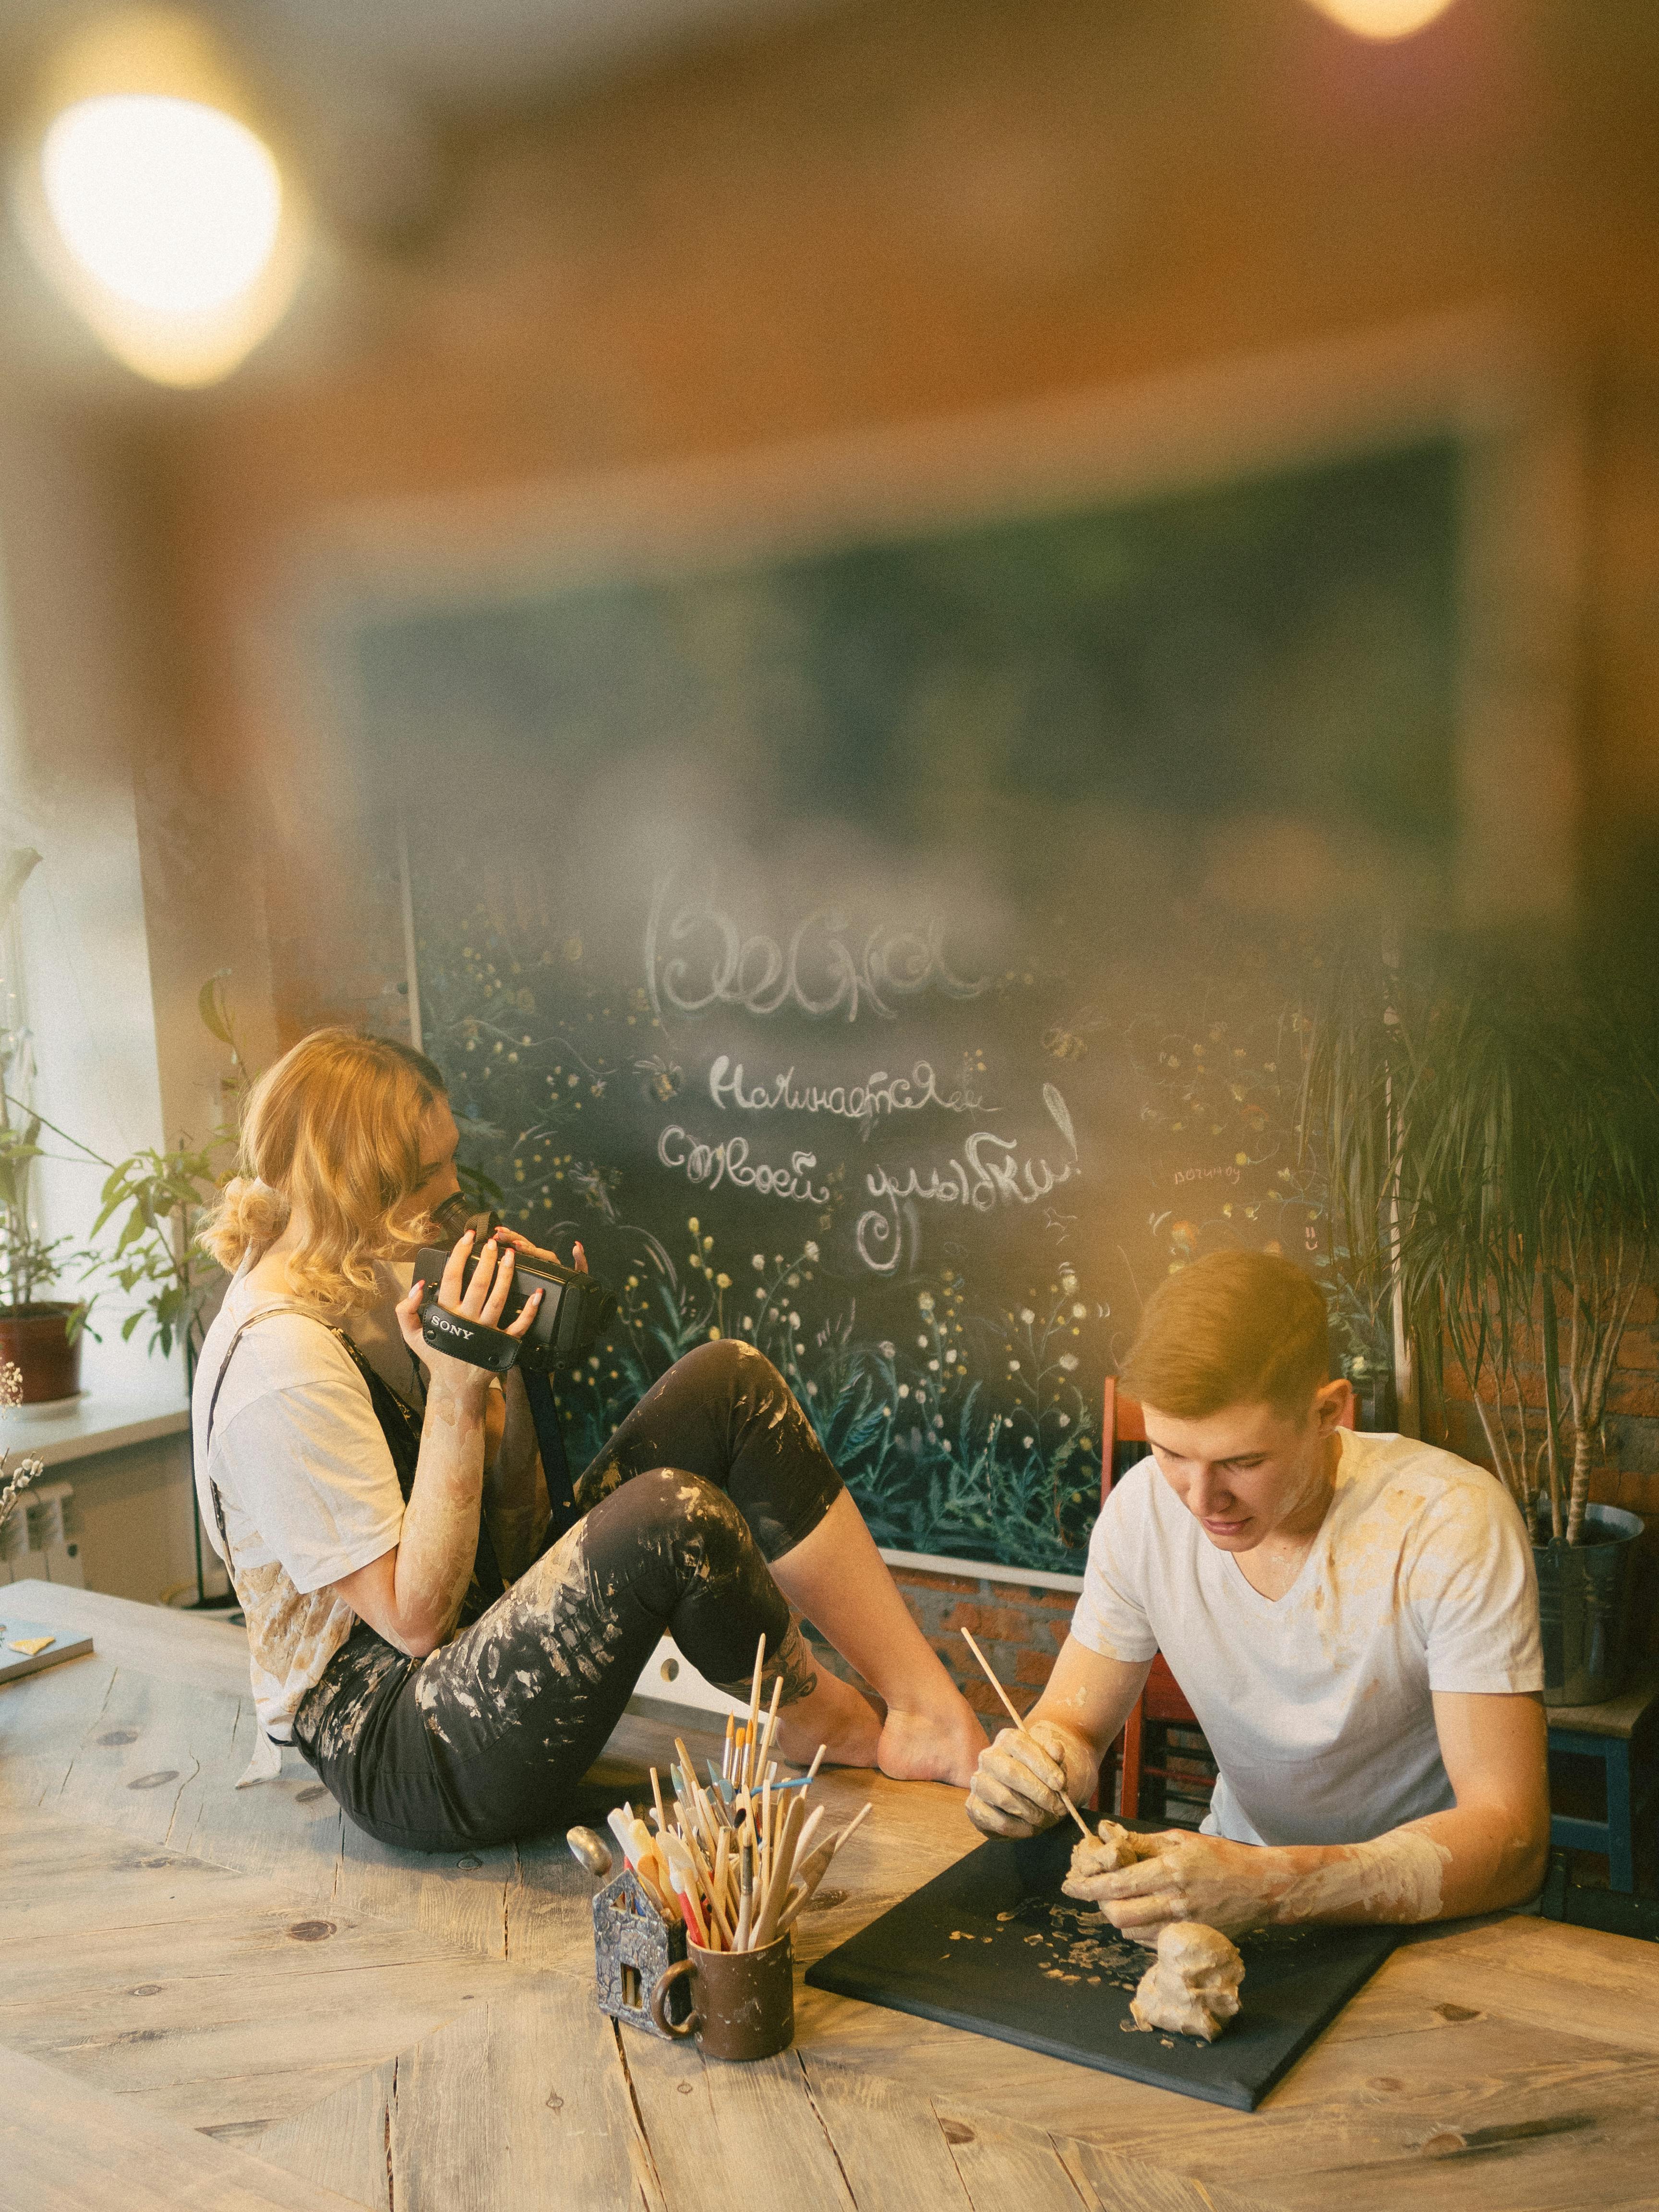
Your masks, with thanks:
M 0 1690 L 0 2212 L 1659 2205 L 1659 1947 L 1413 1938 L 1252 2115 L 816 1991 L 794 2051 L 721 2068 L 595 2011 L 557 1838 L 389 1851 L 294 1754 L 237 1792 L 237 1630 L 11 1604 L 97 1652 Z M 668 1734 L 628 1719 L 608 1756 Z M 874 1836 L 805 1958 L 975 1840 L 945 1790 L 830 1794 L 874 1796 Z

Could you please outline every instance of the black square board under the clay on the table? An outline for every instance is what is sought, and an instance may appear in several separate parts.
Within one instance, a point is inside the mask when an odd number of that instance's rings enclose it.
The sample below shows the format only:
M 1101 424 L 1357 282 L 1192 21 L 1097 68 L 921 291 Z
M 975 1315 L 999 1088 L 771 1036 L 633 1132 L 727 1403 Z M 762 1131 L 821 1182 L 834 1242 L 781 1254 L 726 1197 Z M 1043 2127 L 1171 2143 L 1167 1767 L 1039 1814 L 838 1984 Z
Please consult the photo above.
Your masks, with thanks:
M 1391 1927 L 1248 1936 L 1243 2011 L 1219 2042 L 1148 2035 L 1128 2000 L 1150 1953 L 1060 1893 L 1073 1840 L 1066 1825 L 982 1843 L 810 1966 L 807 1984 L 1252 2112 L 1398 1940 Z

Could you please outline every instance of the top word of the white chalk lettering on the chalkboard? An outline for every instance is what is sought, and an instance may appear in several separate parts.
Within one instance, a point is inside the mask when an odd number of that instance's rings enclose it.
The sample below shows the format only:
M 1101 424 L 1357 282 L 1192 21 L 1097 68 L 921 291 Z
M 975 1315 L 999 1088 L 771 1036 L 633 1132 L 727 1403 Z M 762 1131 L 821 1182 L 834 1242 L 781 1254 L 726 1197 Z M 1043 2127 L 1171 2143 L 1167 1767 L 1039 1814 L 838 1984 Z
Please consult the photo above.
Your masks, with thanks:
M 686 947 L 677 951 L 677 947 Z M 657 885 L 646 922 L 646 991 L 657 1020 L 672 1013 L 703 1013 L 708 1006 L 741 1006 L 745 1013 L 845 1015 L 858 1020 L 867 1006 L 896 1020 L 889 1000 L 942 991 L 945 998 L 978 998 L 989 978 L 964 982 L 945 958 L 945 922 L 920 929 L 878 925 L 863 942 L 847 916 L 816 907 L 799 925 L 787 947 L 768 936 L 743 936 L 712 896 L 675 900 L 672 876 Z

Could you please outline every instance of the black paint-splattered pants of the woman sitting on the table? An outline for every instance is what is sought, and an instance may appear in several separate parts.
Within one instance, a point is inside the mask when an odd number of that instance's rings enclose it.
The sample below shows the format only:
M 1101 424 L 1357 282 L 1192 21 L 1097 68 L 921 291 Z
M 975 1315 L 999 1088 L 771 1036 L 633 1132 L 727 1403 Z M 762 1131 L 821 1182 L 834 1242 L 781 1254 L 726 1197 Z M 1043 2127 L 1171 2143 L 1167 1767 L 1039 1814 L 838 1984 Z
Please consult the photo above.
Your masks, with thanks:
M 841 1493 L 812 1422 L 750 1345 L 701 1345 L 584 1471 L 575 1526 L 427 1659 L 367 1624 L 294 1714 L 294 1741 L 380 1843 L 449 1851 L 555 1827 L 672 1635 L 748 1690 L 765 1632 L 785 1701 L 812 1668 L 770 1559 Z

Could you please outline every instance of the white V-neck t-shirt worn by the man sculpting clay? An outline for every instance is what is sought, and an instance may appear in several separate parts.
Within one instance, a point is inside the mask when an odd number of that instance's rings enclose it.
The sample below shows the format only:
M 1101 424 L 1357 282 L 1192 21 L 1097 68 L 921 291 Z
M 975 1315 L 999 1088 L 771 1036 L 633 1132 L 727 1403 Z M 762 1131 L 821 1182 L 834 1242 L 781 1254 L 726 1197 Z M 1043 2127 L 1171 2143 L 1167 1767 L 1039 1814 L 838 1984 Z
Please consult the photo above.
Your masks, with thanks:
M 1283 1597 L 1252 1590 L 1157 1469 L 1110 1491 L 1071 1632 L 1164 1652 L 1219 1781 L 1210 1834 L 1365 1843 L 1447 1812 L 1433 1690 L 1544 1688 L 1533 1548 L 1509 1491 L 1405 1436 L 1338 1431 L 1336 1495 Z

